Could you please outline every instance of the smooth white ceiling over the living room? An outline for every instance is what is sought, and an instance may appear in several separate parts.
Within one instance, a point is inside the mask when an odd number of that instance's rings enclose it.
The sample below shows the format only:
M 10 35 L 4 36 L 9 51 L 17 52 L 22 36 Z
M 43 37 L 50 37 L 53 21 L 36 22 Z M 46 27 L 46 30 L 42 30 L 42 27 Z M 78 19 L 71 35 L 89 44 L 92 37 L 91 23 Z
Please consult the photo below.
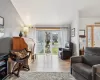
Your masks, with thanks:
M 100 4 L 100 0 L 11 0 L 25 24 L 65 24 L 76 11 Z M 85 10 L 84 10 L 85 11 Z

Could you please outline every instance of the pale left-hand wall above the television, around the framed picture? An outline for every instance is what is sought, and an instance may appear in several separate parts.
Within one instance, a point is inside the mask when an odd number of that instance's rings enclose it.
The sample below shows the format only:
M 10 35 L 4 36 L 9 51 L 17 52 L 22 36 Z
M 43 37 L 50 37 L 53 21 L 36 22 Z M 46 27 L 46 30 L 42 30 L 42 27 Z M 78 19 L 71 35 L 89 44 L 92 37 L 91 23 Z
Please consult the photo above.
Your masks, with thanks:
M 10 0 L 0 0 L 0 16 L 4 18 L 4 37 L 19 36 L 23 21 Z

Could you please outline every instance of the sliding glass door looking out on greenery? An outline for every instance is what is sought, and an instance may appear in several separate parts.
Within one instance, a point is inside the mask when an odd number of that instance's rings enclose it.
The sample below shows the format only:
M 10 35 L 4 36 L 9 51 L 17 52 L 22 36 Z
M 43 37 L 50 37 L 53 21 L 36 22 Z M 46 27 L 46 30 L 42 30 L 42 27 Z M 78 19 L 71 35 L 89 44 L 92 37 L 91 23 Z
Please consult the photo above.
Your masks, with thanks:
M 58 54 L 60 31 L 37 30 L 36 31 L 36 52 L 38 54 Z

